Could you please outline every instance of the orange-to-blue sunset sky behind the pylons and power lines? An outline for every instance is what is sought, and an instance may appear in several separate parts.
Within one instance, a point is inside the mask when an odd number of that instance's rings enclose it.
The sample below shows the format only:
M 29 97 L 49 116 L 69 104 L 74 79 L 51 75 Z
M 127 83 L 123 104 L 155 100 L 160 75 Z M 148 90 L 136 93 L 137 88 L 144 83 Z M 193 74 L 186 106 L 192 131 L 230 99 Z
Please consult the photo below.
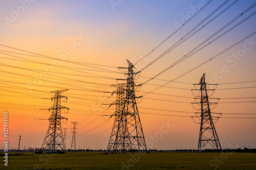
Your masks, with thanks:
M 148 149 L 197 149 L 200 120 L 191 116 L 200 106 L 191 103 L 200 100 L 191 89 L 200 88 L 193 84 L 203 73 L 207 83 L 218 84 L 207 87 L 216 89 L 208 91 L 215 98 L 210 102 L 218 102 L 211 112 L 222 113 L 214 121 L 222 148 L 256 148 L 256 7 L 249 0 L 223 3 L 2 2 L 0 123 L 7 111 L 9 148 L 17 148 L 19 135 L 20 148 L 40 148 L 53 105 L 50 91 L 69 89 L 61 100 L 69 108 L 61 113 L 68 118 L 61 120 L 67 148 L 71 122 L 78 122 L 77 148 L 106 149 L 115 112 L 109 106 L 116 100 L 111 85 L 125 82 L 116 79 L 126 78 L 127 69 L 118 68 L 127 67 L 126 59 L 139 72 L 135 83 L 142 84 L 135 93 L 143 96 L 137 106 Z

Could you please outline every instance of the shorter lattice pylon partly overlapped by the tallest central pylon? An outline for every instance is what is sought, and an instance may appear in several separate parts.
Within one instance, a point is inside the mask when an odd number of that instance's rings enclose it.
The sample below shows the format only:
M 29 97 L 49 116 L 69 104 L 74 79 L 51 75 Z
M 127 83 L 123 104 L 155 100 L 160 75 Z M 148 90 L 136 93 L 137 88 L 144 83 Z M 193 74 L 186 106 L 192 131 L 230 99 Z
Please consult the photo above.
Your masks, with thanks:
M 116 105 L 116 111 L 113 115 L 115 115 L 115 122 L 113 125 L 113 129 L 110 135 L 110 140 L 108 144 L 108 148 L 106 149 L 108 152 L 125 152 L 127 150 L 132 150 L 131 139 L 129 137 L 129 131 L 127 124 L 125 124 L 126 116 L 124 116 L 124 99 L 125 99 L 125 87 L 126 83 L 119 83 L 113 85 L 117 87 L 113 93 L 116 93 L 116 101 L 111 105 Z

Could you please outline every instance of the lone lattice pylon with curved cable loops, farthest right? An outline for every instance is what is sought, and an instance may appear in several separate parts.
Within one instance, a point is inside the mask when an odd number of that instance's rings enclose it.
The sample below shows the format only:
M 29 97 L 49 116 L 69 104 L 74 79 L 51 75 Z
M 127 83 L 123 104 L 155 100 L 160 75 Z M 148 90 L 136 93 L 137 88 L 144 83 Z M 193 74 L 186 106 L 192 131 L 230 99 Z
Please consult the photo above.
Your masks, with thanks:
M 201 152 L 207 143 L 209 143 L 214 149 L 222 152 L 221 144 L 216 133 L 214 123 L 212 122 L 212 116 L 210 112 L 210 104 L 209 98 L 207 94 L 205 82 L 205 73 L 201 77 L 201 80 L 198 85 L 200 85 L 200 95 L 201 95 L 201 126 L 199 133 L 199 141 L 198 141 L 198 152 Z M 216 103 L 215 103 L 216 104 Z M 219 118 L 219 117 L 214 117 Z

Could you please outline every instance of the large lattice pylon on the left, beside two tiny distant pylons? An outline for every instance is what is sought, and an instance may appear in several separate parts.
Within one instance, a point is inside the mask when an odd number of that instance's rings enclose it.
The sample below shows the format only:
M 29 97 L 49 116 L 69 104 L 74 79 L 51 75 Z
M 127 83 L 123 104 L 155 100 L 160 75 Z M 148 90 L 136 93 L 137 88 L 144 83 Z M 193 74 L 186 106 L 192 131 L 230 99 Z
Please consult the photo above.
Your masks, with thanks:
M 66 96 L 62 96 L 61 93 L 67 90 L 51 91 L 52 93 L 55 93 L 53 98 L 51 98 L 54 102 L 53 106 L 49 108 L 49 111 L 52 110 L 52 114 L 49 118 L 49 128 L 45 140 L 42 143 L 42 150 L 47 150 L 52 153 L 55 153 L 57 150 L 65 152 L 65 142 L 61 130 L 61 119 L 67 120 L 67 118 L 61 116 L 61 109 L 69 108 L 61 106 L 61 98 L 68 99 Z

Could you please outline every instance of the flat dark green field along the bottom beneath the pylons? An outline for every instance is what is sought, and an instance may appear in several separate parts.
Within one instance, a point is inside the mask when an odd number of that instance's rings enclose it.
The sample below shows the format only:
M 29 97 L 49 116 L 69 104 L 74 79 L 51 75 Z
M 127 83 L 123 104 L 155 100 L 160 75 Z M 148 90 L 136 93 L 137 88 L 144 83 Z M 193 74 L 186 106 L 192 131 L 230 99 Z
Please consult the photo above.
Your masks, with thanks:
M 254 153 L 66 153 L 12 155 L 0 169 L 256 169 Z

